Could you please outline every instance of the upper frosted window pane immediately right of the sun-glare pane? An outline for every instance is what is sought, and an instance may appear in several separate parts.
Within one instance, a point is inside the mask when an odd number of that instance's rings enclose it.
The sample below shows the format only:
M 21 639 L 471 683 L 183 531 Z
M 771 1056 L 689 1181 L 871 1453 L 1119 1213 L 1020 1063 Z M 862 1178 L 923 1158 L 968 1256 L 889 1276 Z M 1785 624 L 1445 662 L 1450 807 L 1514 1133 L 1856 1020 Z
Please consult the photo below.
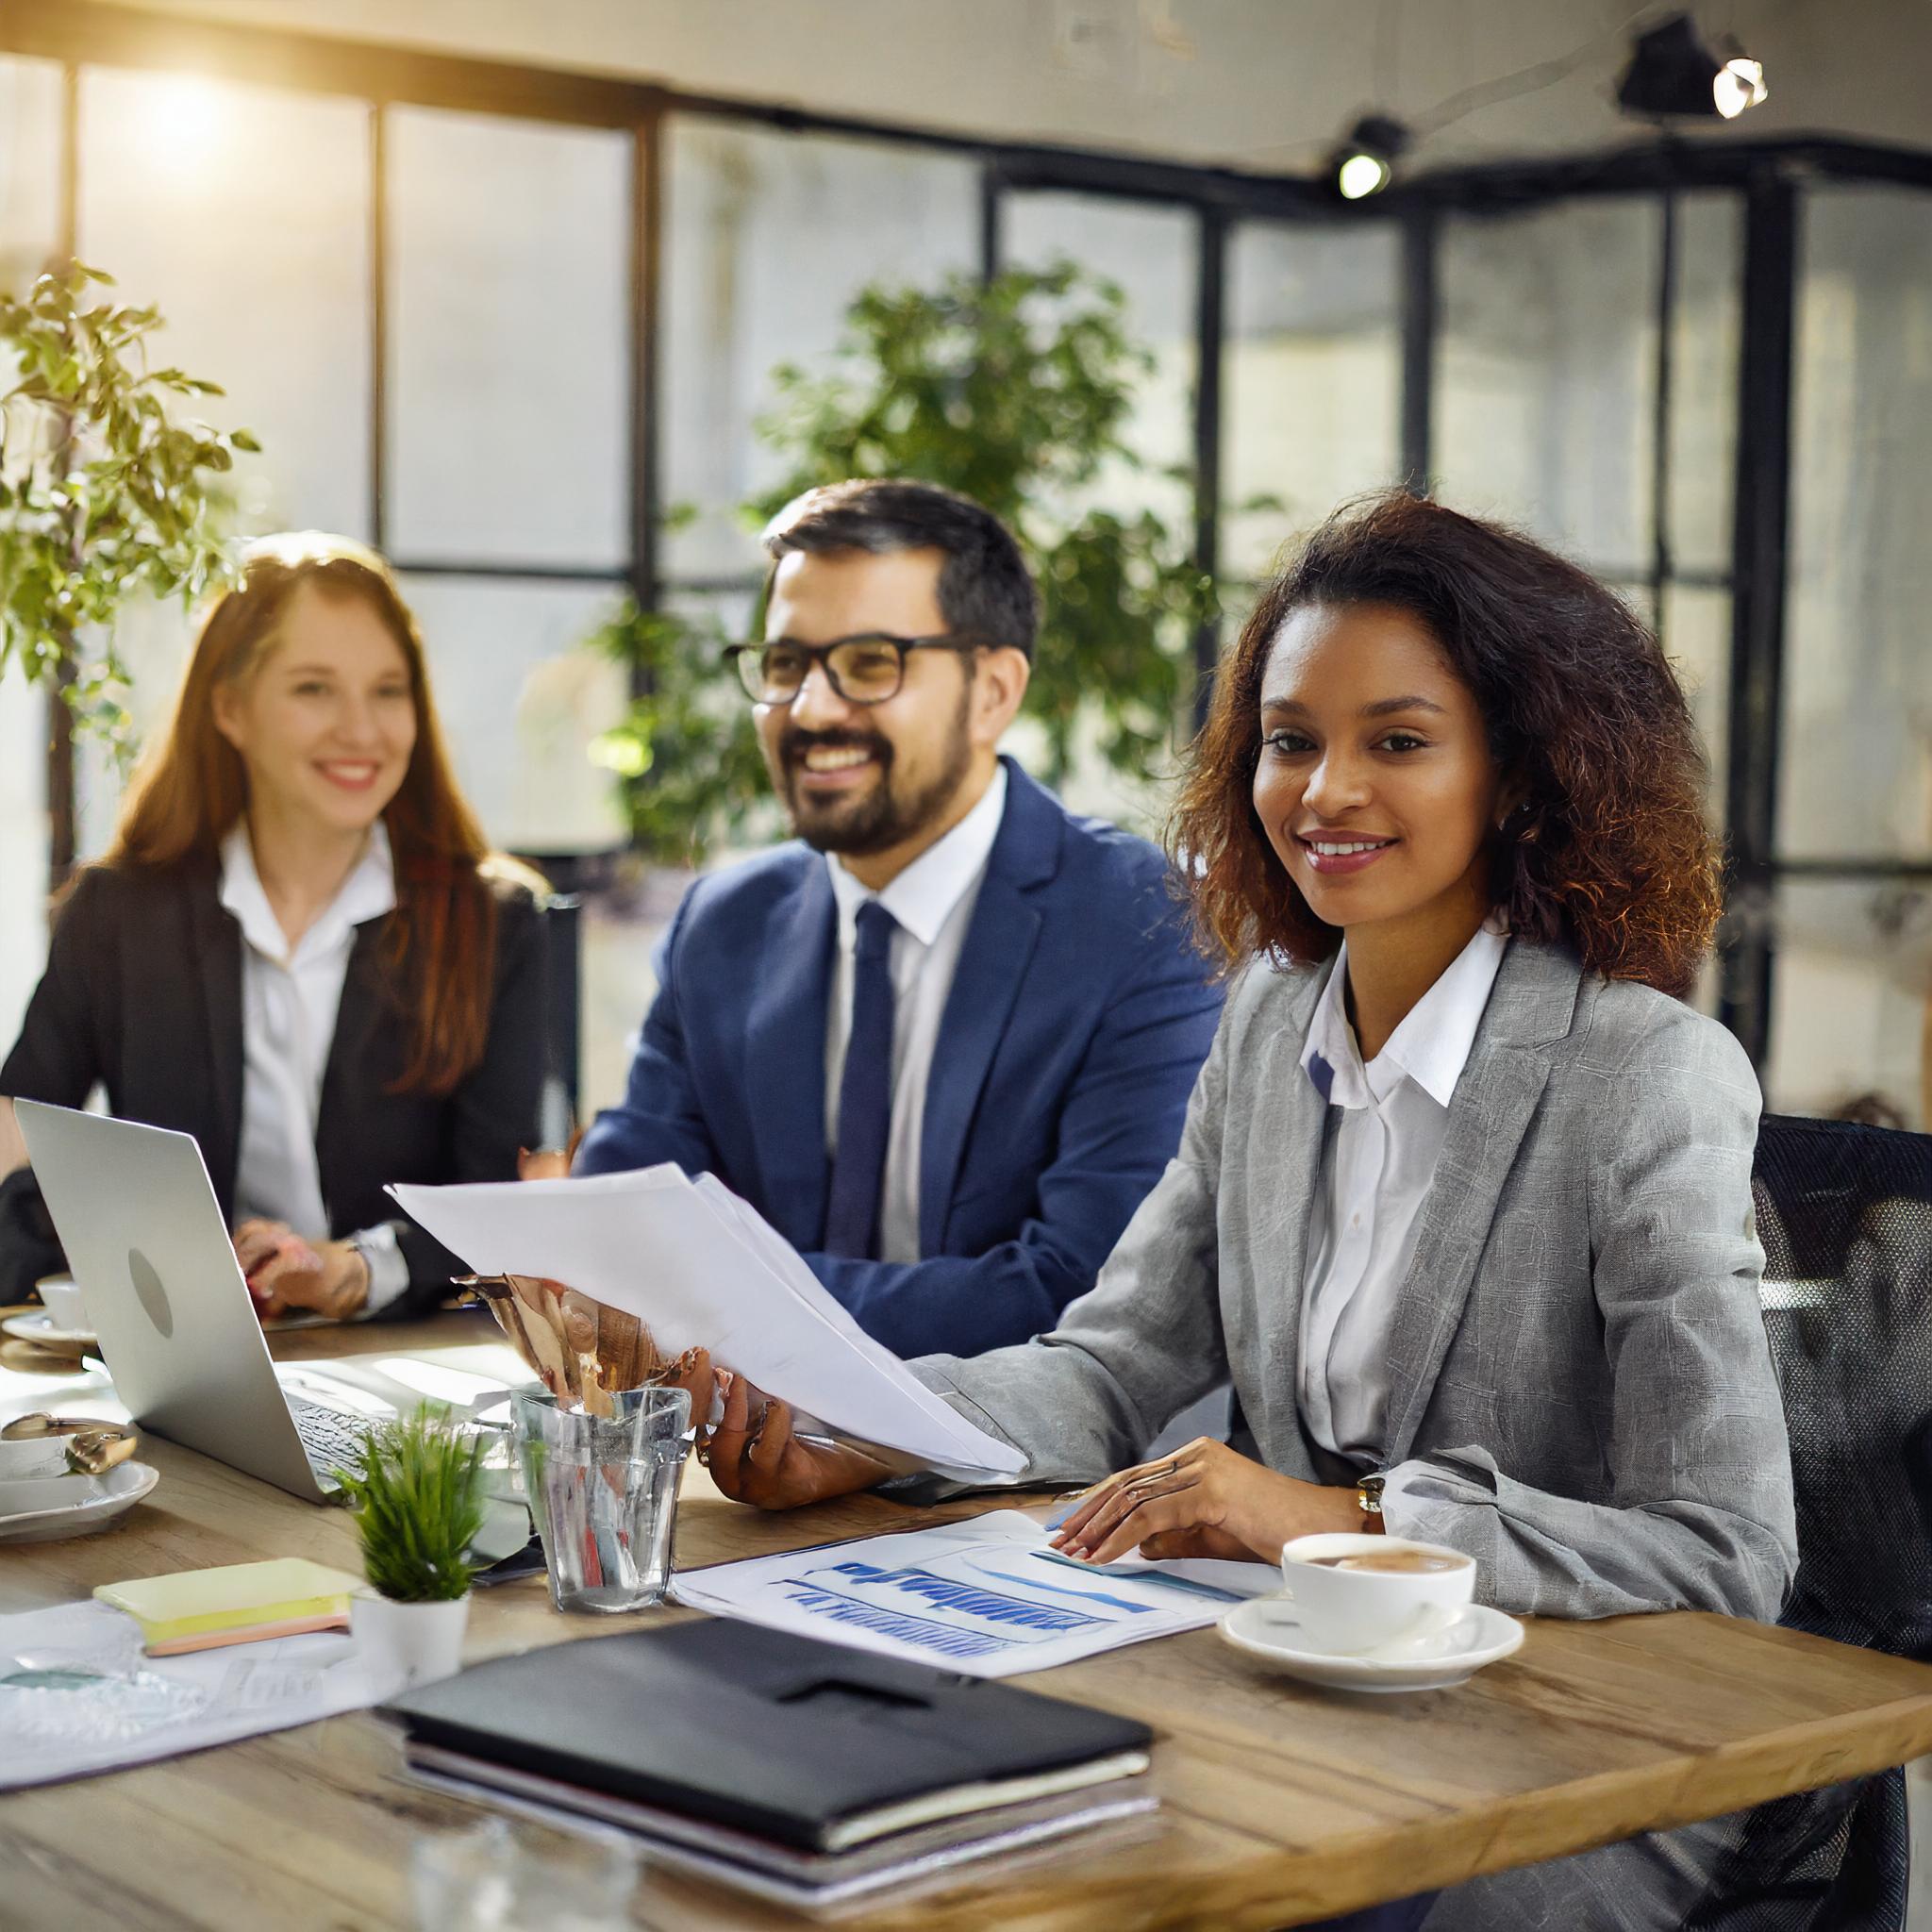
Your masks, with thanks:
M 630 554 L 630 137 L 396 108 L 388 543 Z

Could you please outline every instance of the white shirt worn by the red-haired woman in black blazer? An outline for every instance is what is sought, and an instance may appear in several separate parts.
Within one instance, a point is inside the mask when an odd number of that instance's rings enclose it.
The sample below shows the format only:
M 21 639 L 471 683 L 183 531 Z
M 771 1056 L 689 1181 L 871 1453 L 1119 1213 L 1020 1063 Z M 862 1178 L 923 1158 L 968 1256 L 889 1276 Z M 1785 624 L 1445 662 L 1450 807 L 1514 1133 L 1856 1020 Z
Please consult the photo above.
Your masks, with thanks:
M 396 869 L 381 821 L 342 889 L 290 947 L 255 871 L 247 821 L 222 840 L 222 906 L 242 927 L 242 1157 L 236 1219 L 286 1221 L 303 1240 L 328 1238 L 315 1126 L 323 1074 L 336 1037 L 336 1010 L 355 927 L 396 906 Z M 410 1285 L 410 1267 L 388 1225 L 363 1229 L 375 1314 Z

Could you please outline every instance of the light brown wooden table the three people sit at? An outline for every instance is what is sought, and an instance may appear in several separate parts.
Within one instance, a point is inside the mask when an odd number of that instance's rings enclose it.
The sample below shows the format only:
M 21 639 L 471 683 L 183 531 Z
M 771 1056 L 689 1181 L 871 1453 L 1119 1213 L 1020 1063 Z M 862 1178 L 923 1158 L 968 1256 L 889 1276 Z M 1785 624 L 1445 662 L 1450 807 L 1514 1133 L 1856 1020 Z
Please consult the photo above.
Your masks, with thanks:
M 315 1329 L 288 1358 L 477 1343 L 475 1318 Z M 0 1374 L 0 1401 L 8 1378 Z M 307 1555 L 357 1567 L 342 1511 L 149 1437 L 160 1486 L 100 1536 L 0 1546 L 0 1611 L 97 1582 Z M 696 1466 L 686 1567 L 972 1515 L 848 1497 L 786 1517 L 726 1503 Z M 543 1578 L 477 1592 L 468 1658 L 690 1615 L 558 1617 Z M 1532 1623 L 1459 1690 L 1354 1698 L 1304 1689 L 1213 1631 L 1041 1673 L 1041 1689 L 1159 1733 L 1163 1824 L 1105 1853 L 1066 1847 L 1005 1882 L 850 1920 L 866 1932 L 1267 1928 L 1449 1886 L 1654 1826 L 1718 1816 L 1932 1750 L 1932 1667 L 1725 1617 Z M 189 1758 L 0 1799 L 0 1924 L 408 1928 L 410 1845 L 477 1812 L 412 1783 L 386 1723 L 355 1714 Z M 518 1832 L 541 1832 L 518 1826 Z M 796 1926 L 734 1893 L 647 1872 L 641 1926 Z M 846 1920 L 842 1920 L 846 1922 Z

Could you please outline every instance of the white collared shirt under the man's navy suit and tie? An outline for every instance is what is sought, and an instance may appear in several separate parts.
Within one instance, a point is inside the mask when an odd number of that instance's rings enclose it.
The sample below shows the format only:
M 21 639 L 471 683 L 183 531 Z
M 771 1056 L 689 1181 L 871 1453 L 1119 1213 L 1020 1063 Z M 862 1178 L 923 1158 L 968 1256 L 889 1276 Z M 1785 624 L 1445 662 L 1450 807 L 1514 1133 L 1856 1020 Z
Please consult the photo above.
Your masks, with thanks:
M 966 927 L 980 902 L 999 821 L 1007 811 L 1007 767 L 935 844 L 927 846 L 883 893 L 852 877 L 835 854 L 825 856 L 838 902 L 838 949 L 833 956 L 831 1010 L 825 1016 L 825 1146 L 838 1151 L 838 1086 L 852 1036 L 852 960 L 858 908 L 877 898 L 896 922 L 893 933 L 893 1122 L 885 1142 L 879 1198 L 879 1260 L 920 1260 L 920 1136 L 925 1092 L 939 1045 L 939 1022 Z

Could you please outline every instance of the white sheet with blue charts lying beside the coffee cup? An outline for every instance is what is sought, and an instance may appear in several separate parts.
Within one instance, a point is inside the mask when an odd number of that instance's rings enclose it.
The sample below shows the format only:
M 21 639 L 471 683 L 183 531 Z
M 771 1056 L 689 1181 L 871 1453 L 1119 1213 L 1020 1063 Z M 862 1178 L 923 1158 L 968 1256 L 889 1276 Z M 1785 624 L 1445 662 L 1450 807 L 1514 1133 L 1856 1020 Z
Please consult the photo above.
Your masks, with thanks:
M 1194 1631 L 1231 1602 L 1279 1588 L 1271 1563 L 1072 1567 L 1047 1553 L 1047 1532 L 1032 1517 L 995 1509 L 933 1530 L 680 1571 L 670 1594 L 717 1617 L 970 1677 L 1012 1677 Z

